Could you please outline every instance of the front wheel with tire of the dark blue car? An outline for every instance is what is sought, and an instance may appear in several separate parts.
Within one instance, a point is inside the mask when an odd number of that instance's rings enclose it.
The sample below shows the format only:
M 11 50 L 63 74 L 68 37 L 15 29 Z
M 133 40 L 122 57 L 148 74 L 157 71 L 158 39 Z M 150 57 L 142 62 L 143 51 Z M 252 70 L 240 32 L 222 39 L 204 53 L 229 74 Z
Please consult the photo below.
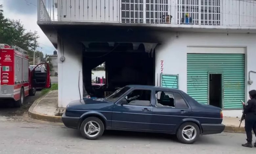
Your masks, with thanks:
M 80 132 L 83 137 L 89 140 L 96 140 L 104 131 L 104 125 L 99 118 L 89 117 L 86 118 L 80 127 Z

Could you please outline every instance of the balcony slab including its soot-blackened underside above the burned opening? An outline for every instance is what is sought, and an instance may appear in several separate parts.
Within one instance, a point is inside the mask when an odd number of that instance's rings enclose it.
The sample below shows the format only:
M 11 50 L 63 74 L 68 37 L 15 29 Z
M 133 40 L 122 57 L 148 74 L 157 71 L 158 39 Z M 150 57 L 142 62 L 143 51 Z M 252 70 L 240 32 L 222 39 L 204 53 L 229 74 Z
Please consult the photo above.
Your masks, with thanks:
M 131 24 L 131 23 L 107 23 L 107 22 L 79 22 L 79 21 L 37 21 L 39 27 L 44 31 L 49 40 L 57 48 L 57 34 L 70 34 L 83 39 L 84 36 L 92 41 L 100 41 L 98 38 L 115 39 L 134 42 L 161 43 L 161 39 L 156 37 L 156 33 L 166 32 L 205 32 L 205 33 L 256 33 L 256 26 L 205 26 L 205 25 L 176 25 L 176 24 Z M 127 34 L 125 31 L 132 31 Z M 119 32 L 119 33 L 118 33 Z M 115 34 L 114 34 L 115 33 Z M 123 35 L 123 36 L 119 36 Z M 100 36 L 100 37 L 99 37 Z M 80 38 L 79 38 L 80 37 Z M 128 40 L 129 38 L 130 40 Z M 93 40 L 94 39 L 94 40 Z M 105 39 L 105 40 L 104 40 Z M 85 41 L 85 40 L 82 40 Z M 89 40 L 87 40 L 89 41 Z M 153 42 L 152 42 L 153 41 Z

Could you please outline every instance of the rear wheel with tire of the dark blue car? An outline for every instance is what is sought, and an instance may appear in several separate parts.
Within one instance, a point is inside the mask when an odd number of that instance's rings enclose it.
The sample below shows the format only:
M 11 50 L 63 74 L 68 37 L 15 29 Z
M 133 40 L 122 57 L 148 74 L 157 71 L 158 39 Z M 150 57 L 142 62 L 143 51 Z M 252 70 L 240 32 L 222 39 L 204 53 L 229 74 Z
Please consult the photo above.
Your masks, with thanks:
M 200 130 L 195 123 L 187 122 L 179 127 L 176 135 L 181 143 L 193 144 L 199 138 Z

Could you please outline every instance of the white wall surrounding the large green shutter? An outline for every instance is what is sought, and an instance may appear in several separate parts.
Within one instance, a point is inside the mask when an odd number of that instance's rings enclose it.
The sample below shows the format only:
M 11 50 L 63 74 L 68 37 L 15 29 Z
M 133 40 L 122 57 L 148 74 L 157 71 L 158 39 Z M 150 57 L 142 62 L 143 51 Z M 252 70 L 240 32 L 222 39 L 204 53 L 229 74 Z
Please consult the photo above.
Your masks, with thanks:
M 256 89 L 256 83 L 251 86 L 247 84 L 248 72 L 256 71 L 256 34 L 178 32 L 177 35 L 176 32 L 165 32 L 162 38 L 166 42 L 156 48 L 156 85 L 160 85 L 161 61 L 163 60 L 162 73 L 179 74 L 179 88 L 184 92 L 187 91 L 187 53 L 191 50 L 190 47 L 232 47 L 234 53 L 237 52 L 236 47 L 243 47 L 245 48 L 245 99 L 249 99 L 249 90 Z M 207 50 L 204 53 L 207 53 Z M 216 53 L 219 52 L 216 50 Z M 228 53 L 232 53 L 232 50 Z M 256 74 L 251 73 L 251 79 L 256 82 Z M 224 110 L 223 113 L 227 117 L 239 117 L 242 111 Z

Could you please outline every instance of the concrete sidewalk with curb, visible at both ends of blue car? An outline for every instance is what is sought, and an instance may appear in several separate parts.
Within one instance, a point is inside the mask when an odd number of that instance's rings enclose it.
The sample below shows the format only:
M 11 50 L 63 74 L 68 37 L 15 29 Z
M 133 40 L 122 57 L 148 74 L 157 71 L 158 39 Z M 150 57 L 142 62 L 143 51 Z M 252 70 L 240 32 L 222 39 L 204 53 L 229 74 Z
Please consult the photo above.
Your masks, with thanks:
M 48 94 L 36 100 L 29 109 L 29 116 L 33 119 L 62 122 L 61 115 L 65 108 L 58 107 L 58 90 L 50 91 Z M 245 132 L 245 123 L 239 127 L 240 118 L 223 117 L 223 124 L 226 125 L 226 132 Z

